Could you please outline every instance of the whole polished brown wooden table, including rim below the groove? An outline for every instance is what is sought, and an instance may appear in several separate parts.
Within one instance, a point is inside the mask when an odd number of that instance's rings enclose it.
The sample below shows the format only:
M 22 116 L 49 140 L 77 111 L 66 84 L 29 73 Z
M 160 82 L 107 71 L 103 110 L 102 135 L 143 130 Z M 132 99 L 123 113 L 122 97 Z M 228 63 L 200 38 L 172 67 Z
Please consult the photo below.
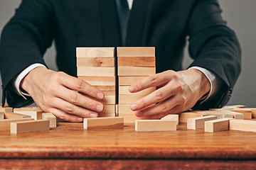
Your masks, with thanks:
M 83 130 L 58 123 L 46 132 L 0 131 L 0 169 L 255 169 L 256 133 L 203 132 L 178 125 L 171 132 Z

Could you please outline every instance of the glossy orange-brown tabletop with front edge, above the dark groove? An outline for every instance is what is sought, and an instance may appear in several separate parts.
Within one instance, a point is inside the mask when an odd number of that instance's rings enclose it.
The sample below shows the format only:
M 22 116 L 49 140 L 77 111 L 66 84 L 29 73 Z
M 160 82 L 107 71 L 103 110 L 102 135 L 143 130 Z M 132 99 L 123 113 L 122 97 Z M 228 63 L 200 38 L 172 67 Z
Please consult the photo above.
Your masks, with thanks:
M 58 123 L 45 132 L 0 131 L 0 158 L 62 159 L 256 159 L 256 132 L 187 130 L 136 132 L 84 130 L 82 123 Z

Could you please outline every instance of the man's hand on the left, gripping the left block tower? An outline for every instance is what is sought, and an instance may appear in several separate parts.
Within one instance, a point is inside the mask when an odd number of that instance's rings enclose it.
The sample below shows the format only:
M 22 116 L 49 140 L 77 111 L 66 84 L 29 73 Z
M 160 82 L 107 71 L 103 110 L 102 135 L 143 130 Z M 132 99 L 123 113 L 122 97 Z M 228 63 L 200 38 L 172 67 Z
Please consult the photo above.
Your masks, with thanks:
M 21 81 L 21 88 L 44 111 L 70 122 L 82 122 L 82 118 L 95 118 L 103 111 L 102 103 L 82 94 L 102 100 L 102 91 L 64 72 L 36 67 Z

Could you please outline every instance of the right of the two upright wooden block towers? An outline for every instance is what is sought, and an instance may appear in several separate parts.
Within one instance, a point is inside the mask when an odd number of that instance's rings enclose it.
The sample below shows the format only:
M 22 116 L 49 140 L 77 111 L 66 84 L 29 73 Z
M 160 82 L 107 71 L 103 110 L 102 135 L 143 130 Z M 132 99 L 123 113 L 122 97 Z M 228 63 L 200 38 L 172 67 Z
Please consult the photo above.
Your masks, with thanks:
M 117 47 L 117 69 L 119 79 L 118 115 L 124 117 L 124 122 L 133 122 L 137 119 L 130 109 L 131 104 L 152 91 L 155 87 L 132 94 L 129 86 L 156 74 L 154 47 Z

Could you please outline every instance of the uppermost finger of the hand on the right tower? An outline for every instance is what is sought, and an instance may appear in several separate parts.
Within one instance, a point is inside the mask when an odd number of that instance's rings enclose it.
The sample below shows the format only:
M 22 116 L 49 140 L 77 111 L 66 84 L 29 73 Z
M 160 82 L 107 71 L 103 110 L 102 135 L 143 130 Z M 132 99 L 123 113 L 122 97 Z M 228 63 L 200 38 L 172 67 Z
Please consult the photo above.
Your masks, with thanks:
M 160 86 L 161 84 L 165 84 L 171 80 L 171 75 L 173 72 L 174 71 L 169 70 L 147 77 L 146 79 L 142 79 L 142 81 L 132 84 L 132 86 L 129 87 L 129 91 L 131 93 L 135 93 L 137 91 L 147 89 L 151 86 Z

